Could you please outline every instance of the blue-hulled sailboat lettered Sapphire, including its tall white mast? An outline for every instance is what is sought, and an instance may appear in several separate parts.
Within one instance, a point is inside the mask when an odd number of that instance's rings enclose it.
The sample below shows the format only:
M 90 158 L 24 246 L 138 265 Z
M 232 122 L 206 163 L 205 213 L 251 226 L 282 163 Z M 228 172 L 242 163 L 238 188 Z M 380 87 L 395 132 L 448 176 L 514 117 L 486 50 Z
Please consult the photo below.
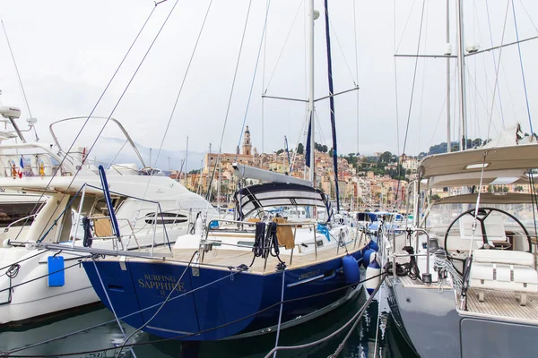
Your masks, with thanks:
M 314 123 L 313 26 L 309 2 L 310 97 Z M 117 317 L 160 337 L 215 340 L 253 337 L 312 320 L 363 292 L 360 263 L 373 244 L 356 227 L 336 222 L 316 188 L 314 130 L 310 180 L 235 164 L 235 176 L 265 183 L 239 188 L 235 218 L 196 221 L 178 238 L 173 257 L 83 260 L 101 301 Z M 280 207 L 308 217 L 273 215 Z

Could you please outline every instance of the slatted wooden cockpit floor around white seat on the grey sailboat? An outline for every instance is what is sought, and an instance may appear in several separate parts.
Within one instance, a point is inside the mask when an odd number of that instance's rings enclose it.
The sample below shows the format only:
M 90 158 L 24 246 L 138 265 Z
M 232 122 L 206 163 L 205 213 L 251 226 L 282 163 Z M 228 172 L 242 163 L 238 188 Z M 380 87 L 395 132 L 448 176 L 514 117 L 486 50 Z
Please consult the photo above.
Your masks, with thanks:
M 484 301 L 478 301 L 478 293 L 484 293 Z M 467 291 L 467 311 L 462 314 L 494 316 L 500 319 L 532 321 L 538 323 L 538 294 L 527 293 L 525 306 L 519 304 L 520 294 L 512 291 L 476 289 Z M 459 303 L 457 303 L 459 305 Z

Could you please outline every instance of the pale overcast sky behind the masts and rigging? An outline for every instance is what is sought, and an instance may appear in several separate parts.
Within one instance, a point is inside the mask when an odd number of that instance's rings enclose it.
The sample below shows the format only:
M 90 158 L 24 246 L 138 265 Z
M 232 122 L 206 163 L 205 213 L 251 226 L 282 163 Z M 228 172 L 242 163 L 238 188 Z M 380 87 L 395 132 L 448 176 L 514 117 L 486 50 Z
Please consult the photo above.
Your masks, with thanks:
M 538 24 L 538 2 L 514 2 L 519 38 L 538 36 L 534 25 Z M 174 4 L 175 1 L 169 0 L 154 9 L 95 115 L 110 115 Z M 178 1 L 113 114 L 126 126 L 134 141 L 145 147 L 157 149 L 161 145 L 209 4 L 209 0 Z M 234 151 L 239 142 L 253 80 L 246 123 L 258 151 L 282 148 L 284 135 L 288 136 L 291 146 L 302 141 L 305 105 L 265 99 L 262 131 L 261 94 L 266 91 L 269 96 L 307 98 L 305 4 L 300 0 L 271 2 L 266 51 L 262 49 L 256 77 L 266 1 L 253 0 L 247 18 L 249 4 L 248 0 L 213 1 L 164 139 L 165 149 L 185 149 L 187 136 L 190 150 L 204 152 L 210 142 L 213 149 L 218 148 L 246 20 L 247 30 L 222 150 Z M 511 3 L 505 26 L 507 4 L 505 0 L 489 1 L 487 8 L 485 0 L 465 1 L 465 42 L 480 44 L 481 48 L 499 46 L 503 30 L 502 43 L 515 41 Z M 426 2 L 423 11 L 420 0 L 399 0 L 395 9 L 394 1 L 389 0 L 338 0 L 330 1 L 329 5 L 334 90 L 349 90 L 355 82 L 360 86 L 358 112 L 355 92 L 335 99 L 340 153 L 354 152 L 357 148 L 364 154 L 383 150 L 397 152 L 398 143 L 402 150 L 408 118 L 407 153 L 418 154 L 432 144 L 446 141 L 446 60 L 419 60 L 410 112 L 415 59 L 398 58 L 395 61 L 394 57 L 395 53 L 416 53 L 421 23 L 419 52 L 438 55 L 445 51 L 445 2 Z M 55 120 L 91 113 L 153 7 L 151 0 L 0 0 L 0 15 L 21 72 L 31 115 L 39 120 L 41 141 L 50 141 L 48 125 Z M 322 10 L 323 2 L 316 0 L 316 7 Z M 454 4 L 451 4 L 450 17 L 451 43 L 456 54 Z M 318 98 L 325 96 L 328 90 L 323 16 L 316 21 L 315 36 Z M 528 97 L 536 98 L 538 77 L 534 60 L 538 40 L 521 44 L 521 53 Z M 495 63 L 499 63 L 499 50 L 467 58 L 470 137 L 485 137 L 489 127 L 492 136 L 502 129 L 503 121 L 506 126 L 519 121 L 525 131 L 530 132 L 517 47 L 502 50 L 495 101 L 492 100 L 496 72 L 494 58 Z M 456 114 L 452 125 L 453 140 L 457 138 L 458 120 L 455 65 L 456 60 L 452 60 L 451 107 Z M 23 117 L 30 116 L 3 32 L 0 33 L 0 66 L 3 104 L 21 107 Z M 530 101 L 530 112 L 538 115 L 536 101 Z M 328 101 L 317 103 L 317 117 L 320 123 L 317 139 L 331 147 Z M 399 140 L 396 119 L 399 120 Z M 74 138 L 79 129 L 77 125 L 59 129 L 65 143 Z M 83 133 L 84 143 L 93 140 L 98 128 L 95 124 Z M 534 129 L 534 132 L 538 130 Z M 117 136 L 118 132 L 107 129 L 105 134 L 111 137 Z

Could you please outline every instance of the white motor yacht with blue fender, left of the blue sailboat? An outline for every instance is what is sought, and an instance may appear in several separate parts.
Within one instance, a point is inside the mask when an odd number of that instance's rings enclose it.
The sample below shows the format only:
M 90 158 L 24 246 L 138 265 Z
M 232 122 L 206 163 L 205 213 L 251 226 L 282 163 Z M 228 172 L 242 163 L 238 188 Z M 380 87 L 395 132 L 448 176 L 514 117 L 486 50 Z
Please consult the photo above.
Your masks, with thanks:
M 138 154 L 123 126 L 110 121 Z M 169 177 L 155 175 L 157 171 L 147 168 L 139 154 L 140 165 L 110 165 L 105 170 L 107 202 L 97 167 L 86 158 L 87 149 L 62 149 L 53 126 L 50 132 L 56 146 L 0 145 L 4 168 L 0 187 L 48 197 L 28 231 L 19 235 L 13 231 L 0 248 L 0 324 L 99 301 L 78 265 L 87 253 L 36 250 L 33 243 L 143 250 L 171 244 L 187 234 L 198 212 L 213 213 L 211 204 L 199 195 Z M 143 170 L 139 171 L 140 166 Z M 110 205 L 116 220 L 111 220 Z

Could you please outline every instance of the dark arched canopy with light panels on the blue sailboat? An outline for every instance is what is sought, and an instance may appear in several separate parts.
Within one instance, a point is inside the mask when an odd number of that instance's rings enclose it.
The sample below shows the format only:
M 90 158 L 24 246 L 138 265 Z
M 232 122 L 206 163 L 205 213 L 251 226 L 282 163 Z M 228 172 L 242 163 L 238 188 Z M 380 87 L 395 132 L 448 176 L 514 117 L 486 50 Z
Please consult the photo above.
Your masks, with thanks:
M 323 207 L 331 216 L 329 198 L 319 189 L 297 183 L 263 183 L 239 189 L 234 194 L 238 220 L 256 209 L 282 206 Z

